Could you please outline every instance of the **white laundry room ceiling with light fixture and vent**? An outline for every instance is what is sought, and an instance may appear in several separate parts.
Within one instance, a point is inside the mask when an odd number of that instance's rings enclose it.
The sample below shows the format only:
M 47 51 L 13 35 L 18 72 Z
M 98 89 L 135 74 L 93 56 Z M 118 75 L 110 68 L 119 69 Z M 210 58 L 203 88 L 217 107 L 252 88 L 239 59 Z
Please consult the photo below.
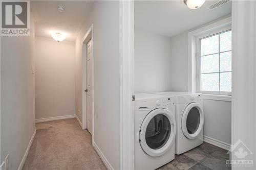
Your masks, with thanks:
M 135 28 L 172 37 L 231 13 L 231 2 L 207 9 L 216 2 L 206 1 L 199 9 L 191 10 L 183 0 L 136 1 Z

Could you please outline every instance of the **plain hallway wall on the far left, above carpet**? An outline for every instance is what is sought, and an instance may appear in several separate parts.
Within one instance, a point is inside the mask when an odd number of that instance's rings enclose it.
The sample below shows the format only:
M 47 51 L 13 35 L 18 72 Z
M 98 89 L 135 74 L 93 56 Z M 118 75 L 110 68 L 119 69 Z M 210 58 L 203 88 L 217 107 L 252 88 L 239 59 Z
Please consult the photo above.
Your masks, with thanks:
M 1 162 L 18 169 L 35 131 L 34 20 L 30 36 L 1 37 Z

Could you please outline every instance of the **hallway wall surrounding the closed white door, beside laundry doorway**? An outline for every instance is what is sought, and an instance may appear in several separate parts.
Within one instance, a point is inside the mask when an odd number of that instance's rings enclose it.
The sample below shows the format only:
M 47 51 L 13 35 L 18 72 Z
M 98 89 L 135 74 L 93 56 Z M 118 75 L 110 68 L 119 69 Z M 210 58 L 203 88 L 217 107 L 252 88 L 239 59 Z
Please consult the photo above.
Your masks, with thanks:
M 94 140 L 114 169 L 119 169 L 119 2 L 96 1 L 76 39 L 76 114 L 81 111 L 81 39 L 94 27 Z M 81 117 L 80 117 L 81 118 Z

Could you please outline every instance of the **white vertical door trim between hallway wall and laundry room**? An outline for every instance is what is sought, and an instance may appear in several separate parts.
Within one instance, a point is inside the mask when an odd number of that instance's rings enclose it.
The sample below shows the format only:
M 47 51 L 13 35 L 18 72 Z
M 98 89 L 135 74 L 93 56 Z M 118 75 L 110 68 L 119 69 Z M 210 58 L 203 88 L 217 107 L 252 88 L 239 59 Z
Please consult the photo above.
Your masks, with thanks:
M 120 169 L 135 169 L 134 0 L 119 1 Z

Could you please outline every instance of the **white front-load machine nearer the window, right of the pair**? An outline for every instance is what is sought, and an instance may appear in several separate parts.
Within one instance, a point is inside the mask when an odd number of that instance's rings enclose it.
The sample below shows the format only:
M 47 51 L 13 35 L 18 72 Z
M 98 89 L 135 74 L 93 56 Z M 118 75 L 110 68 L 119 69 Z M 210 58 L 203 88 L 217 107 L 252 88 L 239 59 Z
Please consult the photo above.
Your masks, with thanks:
M 201 93 L 153 92 L 162 95 L 175 95 L 177 134 L 175 154 L 182 154 L 203 143 L 203 99 Z

